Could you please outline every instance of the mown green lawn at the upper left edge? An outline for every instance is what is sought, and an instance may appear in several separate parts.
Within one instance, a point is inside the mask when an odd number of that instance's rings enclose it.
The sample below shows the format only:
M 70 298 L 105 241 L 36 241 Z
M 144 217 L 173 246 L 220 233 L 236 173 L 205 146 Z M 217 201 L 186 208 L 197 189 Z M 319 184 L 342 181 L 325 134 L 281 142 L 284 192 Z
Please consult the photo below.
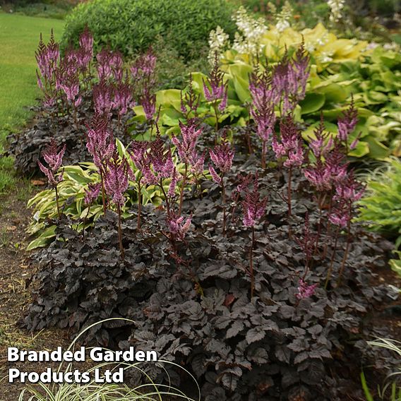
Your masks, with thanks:
M 35 50 L 40 32 L 47 41 L 52 28 L 59 40 L 64 28 L 61 20 L 0 13 L 0 154 L 7 134 L 25 124 L 28 107 L 40 96 Z M 0 193 L 14 181 L 12 160 L 0 157 Z

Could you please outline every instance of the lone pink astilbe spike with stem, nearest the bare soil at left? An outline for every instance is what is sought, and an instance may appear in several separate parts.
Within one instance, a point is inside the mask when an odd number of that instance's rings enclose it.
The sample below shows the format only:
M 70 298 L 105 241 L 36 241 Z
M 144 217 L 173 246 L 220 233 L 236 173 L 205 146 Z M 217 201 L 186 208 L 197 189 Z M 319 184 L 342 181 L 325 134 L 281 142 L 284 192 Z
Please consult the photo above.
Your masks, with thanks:
M 42 152 L 42 157 L 44 158 L 44 161 L 47 162 L 49 167 L 44 167 L 44 165 L 40 162 L 40 160 L 37 161 L 40 171 L 45 176 L 47 176 L 49 185 L 52 188 L 54 188 L 54 191 L 56 193 L 57 215 L 59 216 L 59 218 L 61 217 L 61 211 L 59 205 L 59 193 L 57 191 L 57 185 L 61 181 L 63 181 L 63 172 L 61 172 L 58 176 L 57 173 L 59 172 L 61 164 L 63 164 L 64 152 L 66 152 L 66 145 L 64 144 L 63 147 L 59 148 L 54 138 L 52 138 L 49 145 L 47 145 L 47 148 L 45 148 L 44 151 Z

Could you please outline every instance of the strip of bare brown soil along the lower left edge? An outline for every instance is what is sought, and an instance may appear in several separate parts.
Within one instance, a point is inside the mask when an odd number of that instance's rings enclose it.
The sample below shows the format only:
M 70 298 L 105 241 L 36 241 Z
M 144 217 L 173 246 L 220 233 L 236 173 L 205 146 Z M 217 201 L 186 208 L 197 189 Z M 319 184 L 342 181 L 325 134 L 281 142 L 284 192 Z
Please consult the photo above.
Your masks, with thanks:
M 25 230 L 31 216 L 26 201 L 34 191 L 31 186 L 20 182 L 11 193 L 0 197 L 0 380 L 3 379 L 0 401 L 18 400 L 25 387 L 23 383 L 8 383 L 8 369 L 41 372 L 48 366 L 57 366 L 56 363 L 8 362 L 7 347 L 54 350 L 59 346 L 68 347 L 70 343 L 66 330 L 28 333 L 16 325 L 30 302 L 32 270 L 28 270 L 28 253 L 24 249 L 29 243 Z

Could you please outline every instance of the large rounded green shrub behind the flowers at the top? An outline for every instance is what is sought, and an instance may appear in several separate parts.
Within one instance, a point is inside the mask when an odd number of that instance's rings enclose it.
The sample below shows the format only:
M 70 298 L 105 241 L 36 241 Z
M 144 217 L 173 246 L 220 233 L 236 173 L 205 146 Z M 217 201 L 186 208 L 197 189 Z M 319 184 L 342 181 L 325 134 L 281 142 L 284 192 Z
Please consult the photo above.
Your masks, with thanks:
M 193 59 L 217 25 L 234 34 L 232 11 L 225 0 L 92 0 L 79 4 L 66 18 L 62 42 L 64 47 L 78 43 L 88 24 L 95 47 L 109 44 L 129 56 L 145 52 L 160 35 L 179 55 Z

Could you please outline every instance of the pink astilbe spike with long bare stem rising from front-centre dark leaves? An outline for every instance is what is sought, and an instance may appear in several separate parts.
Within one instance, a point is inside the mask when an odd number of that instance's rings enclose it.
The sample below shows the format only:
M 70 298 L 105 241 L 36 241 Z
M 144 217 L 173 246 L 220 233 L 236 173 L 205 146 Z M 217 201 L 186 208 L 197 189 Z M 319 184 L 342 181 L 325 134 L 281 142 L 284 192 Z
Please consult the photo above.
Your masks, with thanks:
M 249 188 L 245 187 L 244 200 L 242 201 L 242 208 L 244 210 L 244 226 L 251 227 L 251 247 L 249 249 L 249 275 L 251 277 L 251 299 L 255 291 L 255 276 L 253 274 L 253 248 L 255 246 L 255 225 L 258 220 L 263 217 L 266 213 L 266 205 L 268 203 L 267 196 L 261 198 L 258 188 L 258 174 L 255 174 L 253 179 L 253 190 L 249 191 Z

